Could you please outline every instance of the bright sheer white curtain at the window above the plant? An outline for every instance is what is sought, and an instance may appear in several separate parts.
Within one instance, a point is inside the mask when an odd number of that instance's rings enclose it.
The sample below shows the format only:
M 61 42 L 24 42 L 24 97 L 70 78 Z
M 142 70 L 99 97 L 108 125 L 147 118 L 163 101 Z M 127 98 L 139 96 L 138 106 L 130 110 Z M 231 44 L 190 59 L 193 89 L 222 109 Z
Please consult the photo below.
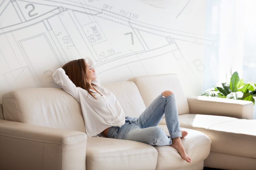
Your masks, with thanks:
M 245 82 L 256 81 L 256 1 L 207 1 L 207 36 L 216 38 L 206 47 L 203 91 L 217 82 L 230 81 L 237 71 Z

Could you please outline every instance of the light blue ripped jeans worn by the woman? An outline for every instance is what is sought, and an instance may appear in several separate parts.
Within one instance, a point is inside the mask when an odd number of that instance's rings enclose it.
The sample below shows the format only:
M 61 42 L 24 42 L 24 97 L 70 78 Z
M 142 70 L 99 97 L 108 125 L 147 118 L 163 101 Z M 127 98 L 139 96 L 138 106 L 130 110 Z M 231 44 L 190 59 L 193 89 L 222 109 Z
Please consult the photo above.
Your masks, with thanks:
M 157 127 L 163 115 L 170 135 Z M 121 128 L 110 127 L 107 137 L 157 146 L 171 145 L 172 138 L 181 137 L 175 95 L 165 97 L 161 93 L 138 118 L 126 116 L 125 124 Z

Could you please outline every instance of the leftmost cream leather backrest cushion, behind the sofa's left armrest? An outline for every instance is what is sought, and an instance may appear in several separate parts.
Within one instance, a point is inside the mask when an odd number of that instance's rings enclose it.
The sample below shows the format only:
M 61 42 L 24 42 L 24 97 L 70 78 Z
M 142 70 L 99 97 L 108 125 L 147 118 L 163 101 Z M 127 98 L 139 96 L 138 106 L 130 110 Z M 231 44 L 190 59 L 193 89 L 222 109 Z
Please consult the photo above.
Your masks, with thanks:
M 81 105 L 60 88 L 31 88 L 5 93 L 4 119 L 85 132 Z

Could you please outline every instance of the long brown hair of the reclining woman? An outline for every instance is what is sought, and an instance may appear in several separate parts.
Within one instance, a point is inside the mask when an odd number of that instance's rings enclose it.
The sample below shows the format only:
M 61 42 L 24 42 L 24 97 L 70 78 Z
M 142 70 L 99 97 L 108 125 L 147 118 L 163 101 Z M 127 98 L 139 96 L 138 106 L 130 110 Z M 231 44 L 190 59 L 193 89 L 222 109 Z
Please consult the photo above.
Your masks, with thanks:
M 85 89 L 88 92 L 88 95 L 90 94 L 92 97 L 94 97 L 93 93 L 89 90 L 90 84 L 88 83 L 86 65 L 85 60 L 83 58 L 69 61 L 66 64 L 64 64 L 62 68 L 65 71 L 68 78 L 76 85 L 76 87 L 81 87 Z M 97 86 L 94 83 L 91 83 L 91 85 Z

